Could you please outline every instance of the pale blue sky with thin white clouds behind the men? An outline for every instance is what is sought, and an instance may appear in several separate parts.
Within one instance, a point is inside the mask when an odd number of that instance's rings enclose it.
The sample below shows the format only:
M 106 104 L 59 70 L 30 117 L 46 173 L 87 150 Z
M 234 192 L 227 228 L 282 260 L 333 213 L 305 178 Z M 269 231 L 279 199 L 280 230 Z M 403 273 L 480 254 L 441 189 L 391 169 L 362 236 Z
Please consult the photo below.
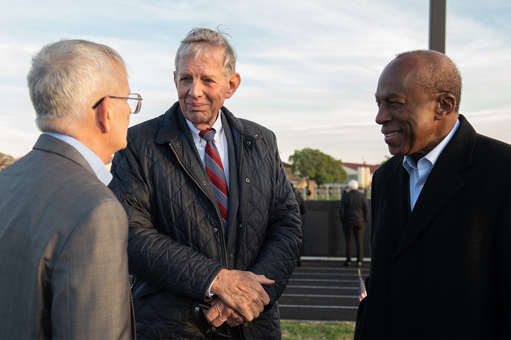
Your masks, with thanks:
M 428 48 L 429 0 L 3 1 L 0 152 L 28 153 L 26 75 L 45 44 L 80 38 L 115 48 L 144 98 L 130 125 L 163 114 L 177 93 L 174 55 L 193 27 L 223 25 L 242 82 L 225 106 L 275 132 L 283 161 L 319 149 L 345 162 L 389 155 L 375 123 L 378 77 L 395 54 Z M 460 113 L 511 142 L 511 2 L 447 0 L 446 54 L 463 77 Z

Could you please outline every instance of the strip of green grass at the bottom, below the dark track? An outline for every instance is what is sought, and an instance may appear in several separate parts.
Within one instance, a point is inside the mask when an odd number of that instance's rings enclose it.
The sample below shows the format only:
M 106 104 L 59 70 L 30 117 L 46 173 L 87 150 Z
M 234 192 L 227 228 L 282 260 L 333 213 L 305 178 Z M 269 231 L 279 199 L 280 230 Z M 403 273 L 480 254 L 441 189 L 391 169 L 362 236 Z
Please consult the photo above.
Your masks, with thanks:
M 281 320 L 283 340 L 353 339 L 355 323 L 346 321 L 300 322 Z

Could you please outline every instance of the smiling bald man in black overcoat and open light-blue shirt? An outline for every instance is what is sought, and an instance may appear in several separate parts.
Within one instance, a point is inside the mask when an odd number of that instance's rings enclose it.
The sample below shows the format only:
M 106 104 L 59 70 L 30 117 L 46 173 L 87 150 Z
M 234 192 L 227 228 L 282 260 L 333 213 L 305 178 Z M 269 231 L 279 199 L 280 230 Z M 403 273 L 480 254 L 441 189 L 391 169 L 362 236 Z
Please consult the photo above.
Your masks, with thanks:
M 434 51 L 398 55 L 378 80 L 394 156 L 373 176 L 355 338 L 511 337 L 511 145 L 476 133 L 460 99 L 456 65 Z

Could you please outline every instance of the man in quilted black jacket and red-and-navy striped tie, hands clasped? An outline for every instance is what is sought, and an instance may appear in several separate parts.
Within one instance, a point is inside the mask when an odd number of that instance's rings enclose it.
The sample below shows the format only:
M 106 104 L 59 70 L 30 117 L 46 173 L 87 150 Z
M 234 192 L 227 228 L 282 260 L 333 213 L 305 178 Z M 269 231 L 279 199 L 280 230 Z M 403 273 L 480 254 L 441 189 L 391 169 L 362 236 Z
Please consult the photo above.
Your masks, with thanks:
M 235 64 L 222 32 L 192 30 L 176 53 L 179 101 L 130 128 L 114 157 L 138 338 L 281 337 L 277 299 L 301 246 L 299 209 L 273 132 L 223 107 L 241 82 Z M 200 137 L 210 128 L 227 209 Z

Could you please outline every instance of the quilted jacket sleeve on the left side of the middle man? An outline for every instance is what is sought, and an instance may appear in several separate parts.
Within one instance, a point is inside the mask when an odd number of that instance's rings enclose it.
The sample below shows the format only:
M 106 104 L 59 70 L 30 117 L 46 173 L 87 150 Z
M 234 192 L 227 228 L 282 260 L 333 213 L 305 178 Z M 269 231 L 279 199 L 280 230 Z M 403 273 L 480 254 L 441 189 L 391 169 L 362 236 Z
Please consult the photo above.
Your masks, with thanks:
M 157 289 L 208 300 L 207 290 L 223 266 L 158 230 L 153 202 L 157 189 L 140 159 L 129 142 L 115 154 L 111 168 L 110 188 L 128 214 L 129 272 Z

